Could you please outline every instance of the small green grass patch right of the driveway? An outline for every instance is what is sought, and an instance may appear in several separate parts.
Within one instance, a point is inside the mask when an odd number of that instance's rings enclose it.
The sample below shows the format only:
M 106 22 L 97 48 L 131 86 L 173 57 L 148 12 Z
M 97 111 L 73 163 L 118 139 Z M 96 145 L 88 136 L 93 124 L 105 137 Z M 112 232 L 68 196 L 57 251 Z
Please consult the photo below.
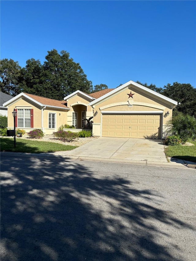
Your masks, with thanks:
M 189 142 L 194 146 L 168 146 L 165 148 L 166 156 L 196 162 L 196 141 Z

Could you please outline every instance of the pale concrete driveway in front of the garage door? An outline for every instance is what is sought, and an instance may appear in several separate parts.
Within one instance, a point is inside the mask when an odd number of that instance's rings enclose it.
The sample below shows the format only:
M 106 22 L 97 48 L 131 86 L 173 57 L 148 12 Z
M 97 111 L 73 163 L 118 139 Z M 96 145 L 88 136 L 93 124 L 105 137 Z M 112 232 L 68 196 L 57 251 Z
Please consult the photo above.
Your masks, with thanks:
M 117 160 L 167 162 L 162 140 L 100 137 L 62 155 Z

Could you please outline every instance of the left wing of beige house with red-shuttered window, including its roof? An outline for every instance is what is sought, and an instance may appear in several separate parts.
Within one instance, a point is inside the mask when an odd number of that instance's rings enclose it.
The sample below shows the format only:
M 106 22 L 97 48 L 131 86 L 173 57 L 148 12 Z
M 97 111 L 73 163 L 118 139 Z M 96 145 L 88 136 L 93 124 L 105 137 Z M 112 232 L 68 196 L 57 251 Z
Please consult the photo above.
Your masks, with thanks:
M 8 108 L 8 128 L 13 129 L 12 111 L 17 111 L 16 128 L 29 132 L 32 129 L 42 129 L 44 134 L 52 134 L 58 127 L 67 122 L 66 101 L 57 101 L 32 95 L 20 93 L 3 106 Z

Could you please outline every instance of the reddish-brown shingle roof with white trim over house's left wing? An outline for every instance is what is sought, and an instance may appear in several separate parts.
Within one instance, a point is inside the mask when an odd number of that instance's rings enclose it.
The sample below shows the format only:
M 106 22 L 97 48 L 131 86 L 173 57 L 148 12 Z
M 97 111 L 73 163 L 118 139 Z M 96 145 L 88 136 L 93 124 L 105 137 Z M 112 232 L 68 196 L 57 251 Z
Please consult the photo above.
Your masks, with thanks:
M 41 97 L 41 96 L 37 96 L 37 95 L 33 95 L 33 94 L 28 94 L 25 92 L 21 92 L 19 95 L 15 96 L 13 99 L 4 103 L 3 106 L 9 105 L 10 103 L 13 103 L 17 99 L 20 99 L 21 97 L 25 97 L 40 106 L 47 106 L 47 107 L 51 107 L 51 108 L 70 110 L 70 108 L 68 108 L 66 106 L 66 101 L 64 101 L 64 100 L 58 101 L 58 100 L 49 99 L 49 98 L 45 98 L 45 97 Z

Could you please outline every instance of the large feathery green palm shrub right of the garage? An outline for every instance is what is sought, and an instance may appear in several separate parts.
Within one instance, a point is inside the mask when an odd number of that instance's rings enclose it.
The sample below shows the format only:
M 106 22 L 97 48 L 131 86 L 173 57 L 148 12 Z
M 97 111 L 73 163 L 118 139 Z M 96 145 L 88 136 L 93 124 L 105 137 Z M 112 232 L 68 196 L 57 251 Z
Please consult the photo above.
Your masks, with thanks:
M 179 136 L 182 143 L 186 143 L 188 139 L 196 139 L 196 119 L 189 114 L 179 113 L 167 122 L 168 131 L 172 135 Z

